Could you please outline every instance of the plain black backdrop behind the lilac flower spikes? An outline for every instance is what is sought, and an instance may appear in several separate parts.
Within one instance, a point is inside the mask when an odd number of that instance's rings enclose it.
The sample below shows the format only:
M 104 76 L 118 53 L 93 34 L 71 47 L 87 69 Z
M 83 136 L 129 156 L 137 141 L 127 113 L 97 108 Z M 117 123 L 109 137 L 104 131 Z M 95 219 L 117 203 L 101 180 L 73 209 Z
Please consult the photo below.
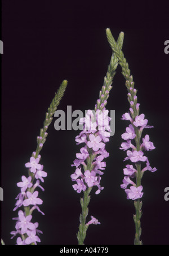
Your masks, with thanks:
M 153 129 L 146 129 L 155 150 L 146 155 L 157 172 L 145 172 L 142 185 L 143 216 L 141 238 L 145 245 L 168 244 L 169 201 L 164 188 L 168 174 L 168 65 L 164 41 L 169 40 L 168 3 L 157 1 L 2 1 L 2 170 L 1 235 L 6 244 L 15 244 L 12 211 L 19 193 L 16 183 L 26 175 L 24 164 L 36 149 L 36 137 L 43 127 L 45 112 L 61 81 L 68 88 L 58 109 L 66 112 L 94 109 L 112 55 L 106 39 L 109 27 L 117 40 L 124 32 L 123 52 L 134 76 L 140 114 Z M 104 190 L 91 193 L 88 220 L 94 215 L 101 225 L 91 225 L 87 245 L 133 244 L 134 204 L 120 188 L 126 153 L 119 150 L 121 134 L 129 124 L 121 120 L 128 112 L 127 89 L 117 68 L 107 109 L 115 110 L 115 134 L 106 144 L 110 153 L 101 179 Z M 74 138 L 79 131 L 56 131 L 54 118 L 41 151 L 41 164 L 48 173 L 39 191 L 42 216 L 33 221 L 43 231 L 41 244 L 76 245 L 81 206 L 72 188 L 70 166 L 81 145 Z M 95 189 L 93 189 L 95 190 Z

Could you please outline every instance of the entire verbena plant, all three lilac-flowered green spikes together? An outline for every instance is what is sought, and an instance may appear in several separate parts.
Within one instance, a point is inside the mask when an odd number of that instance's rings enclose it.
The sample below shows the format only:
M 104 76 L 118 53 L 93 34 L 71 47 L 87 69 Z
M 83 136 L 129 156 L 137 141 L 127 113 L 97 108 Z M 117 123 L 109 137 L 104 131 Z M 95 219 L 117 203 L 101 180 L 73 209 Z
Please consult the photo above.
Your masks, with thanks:
M 83 130 L 75 137 L 77 144 L 82 144 L 82 147 L 80 152 L 76 154 L 72 164 L 75 171 L 72 173 L 71 179 L 73 181 L 73 189 L 77 193 L 83 194 L 80 199 L 82 213 L 79 218 L 77 240 L 79 245 L 83 245 L 89 225 L 100 224 L 99 220 L 94 216 L 87 220 L 88 205 L 91 199 L 91 190 L 94 188 L 95 194 L 99 194 L 104 189 L 102 186 L 104 180 L 101 180 L 101 177 L 106 167 L 104 159 L 109 156 L 109 153 L 105 150 L 105 144 L 109 141 L 111 132 L 109 124 L 111 118 L 108 116 L 109 110 L 106 110 L 106 103 L 119 63 L 122 68 L 122 75 L 126 80 L 127 99 L 130 104 L 129 111 L 122 115 L 122 119 L 130 122 L 130 124 L 126 128 L 126 132 L 122 134 L 124 142 L 121 143 L 120 147 L 120 149 L 127 153 L 124 161 L 128 161 L 126 167 L 123 168 L 124 179 L 121 188 L 126 192 L 127 199 L 134 201 L 136 229 L 134 244 L 141 245 L 143 244 L 140 240 L 141 198 L 143 197 L 141 179 L 145 171 L 157 171 L 155 167 L 152 168 L 150 166 L 148 157 L 144 155 L 144 151 L 155 149 L 153 142 L 149 141 L 148 134 L 145 134 L 144 137 L 142 136 L 145 128 L 152 128 L 153 126 L 148 125 L 148 119 L 145 119 L 144 114 L 140 114 L 140 104 L 136 96 L 137 90 L 135 89 L 133 77 L 122 51 L 124 33 L 121 32 L 119 34 L 117 42 L 115 42 L 110 29 L 106 29 L 106 36 L 113 50 L 108 71 L 104 77 L 104 84 L 100 90 L 99 99 L 97 99 L 95 104 L 95 111 L 88 110 L 86 116 L 79 119 L 79 124 L 83 126 Z M 43 170 L 43 165 L 39 163 L 41 160 L 39 153 L 46 141 L 48 126 L 52 122 L 52 116 L 64 95 L 66 86 L 67 81 L 64 80 L 46 113 L 43 128 L 37 137 L 37 149 L 32 153 L 29 162 L 25 164 L 25 167 L 28 168 L 28 175 L 23 175 L 21 181 L 17 183 L 20 192 L 16 197 L 14 211 L 18 210 L 18 216 L 14 218 L 16 220 L 16 230 L 12 231 L 11 234 L 12 238 L 17 236 L 16 244 L 19 245 L 33 245 L 41 242 L 38 236 L 39 233 L 42 233 L 38 229 L 39 223 L 31 222 L 34 210 L 44 214 L 39 209 L 39 205 L 42 205 L 43 201 L 38 197 L 37 188 L 44 190 L 40 183 L 44 182 L 43 178 L 47 176 L 47 172 Z M 5 244 L 3 240 L 1 243 Z

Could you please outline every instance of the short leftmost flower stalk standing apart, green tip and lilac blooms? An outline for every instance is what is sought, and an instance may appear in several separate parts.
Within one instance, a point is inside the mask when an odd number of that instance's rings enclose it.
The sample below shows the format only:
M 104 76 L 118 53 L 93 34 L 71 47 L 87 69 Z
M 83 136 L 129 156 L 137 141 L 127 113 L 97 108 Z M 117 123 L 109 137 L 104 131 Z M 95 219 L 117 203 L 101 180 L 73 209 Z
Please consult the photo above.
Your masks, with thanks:
M 50 107 L 48 107 L 43 128 L 40 130 L 40 134 L 37 137 L 37 149 L 33 152 L 32 157 L 30 157 L 30 162 L 25 164 L 25 167 L 28 168 L 28 177 L 23 175 L 21 177 L 22 181 L 17 183 L 17 186 L 21 188 L 21 192 L 16 197 L 17 201 L 15 203 L 14 211 L 20 207 L 23 207 L 24 211 L 19 210 L 18 217 L 13 218 L 14 220 L 17 220 L 17 222 L 15 225 L 16 231 L 11 232 L 13 235 L 11 238 L 16 235 L 20 235 L 17 237 L 17 244 L 20 245 L 37 244 L 37 242 L 41 242 L 40 238 L 37 236 L 37 233 L 42 233 L 42 231 L 37 229 L 38 222 L 31 222 L 32 213 L 35 209 L 44 215 L 38 207 L 38 205 L 41 205 L 43 201 L 38 198 L 38 191 L 35 190 L 39 187 L 44 191 L 43 187 L 39 184 L 40 181 L 44 182 L 43 177 L 47 176 L 47 172 L 43 171 L 43 165 L 39 164 L 39 160 L 41 159 L 41 155 L 39 155 L 39 153 L 46 141 L 46 131 L 51 124 L 52 116 L 64 95 L 67 83 L 68 82 L 66 80 L 61 83 L 57 93 L 55 93 L 55 97 L 52 100 Z M 30 208 L 32 205 L 33 207 Z

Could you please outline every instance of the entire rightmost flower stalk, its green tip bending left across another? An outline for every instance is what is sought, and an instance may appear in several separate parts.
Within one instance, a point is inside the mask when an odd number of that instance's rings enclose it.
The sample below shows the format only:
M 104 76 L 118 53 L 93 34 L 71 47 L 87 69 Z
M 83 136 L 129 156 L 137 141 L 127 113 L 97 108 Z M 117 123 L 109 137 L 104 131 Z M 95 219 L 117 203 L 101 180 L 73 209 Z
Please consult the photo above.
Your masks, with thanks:
M 150 167 L 148 158 L 144 156 L 143 150 L 153 150 L 155 149 L 152 142 L 149 141 L 148 134 L 143 138 L 143 143 L 141 144 L 141 135 L 144 128 L 152 128 L 153 126 L 147 125 L 148 120 L 144 119 L 144 114 L 139 115 L 139 103 L 137 103 L 137 90 L 134 88 L 133 77 L 130 73 L 130 69 L 128 68 L 128 63 L 126 58 L 124 58 L 124 54 L 121 49 L 119 49 L 118 44 L 116 44 L 110 29 L 106 29 L 106 35 L 109 41 L 110 46 L 112 47 L 113 52 L 119 59 L 119 64 L 122 67 L 122 75 L 126 80 L 126 87 L 128 90 L 128 102 L 130 103 L 130 111 L 122 115 L 123 120 L 129 120 L 130 125 L 126 128 L 126 132 L 122 134 L 123 140 L 127 142 L 123 142 L 121 144 L 122 150 L 127 150 L 127 157 L 124 160 L 130 160 L 132 163 L 135 163 L 136 169 L 132 164 L 127 164 L 126 168 L 123 169 L 124 172 L 124 180 L 121 188 L 125 189 L 127 194 L 127 199 L 134 200 L 134 206 L 136 214 L 134 215 L 135 222 L 135 245 L 141 245 L 142 241 L 140 240 L 141 236 L 141 207 L 142 202 L 140 198 L 143 197 L 143 186 L 141 185 L 141 179 L 146 170 L 151 172 L 157 171 L 156 168 Z M 131 140 L 135 139 L 135 145 L 131 144 Z M 132 151 L 128 149 L 132 149 Z M 141 170 L 141 164 L 146 162 L 146 167 Z M 135 179 L 134 181 L 131 178 Z M 130 189 L 126 189 L 127 185 L 131 184 Z

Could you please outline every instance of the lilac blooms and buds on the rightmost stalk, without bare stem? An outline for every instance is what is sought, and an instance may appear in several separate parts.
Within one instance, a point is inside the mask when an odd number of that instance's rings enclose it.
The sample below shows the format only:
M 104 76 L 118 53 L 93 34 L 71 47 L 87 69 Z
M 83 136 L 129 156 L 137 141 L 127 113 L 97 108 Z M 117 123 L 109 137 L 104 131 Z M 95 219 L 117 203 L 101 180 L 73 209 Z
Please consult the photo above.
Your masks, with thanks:
M 142 143 L 140 141 L 143 129 L 153 128 L 153 126 L 147 125 L 148 120 L 144 119 L 144 114 L 139 115 L 139 103 L 137 103 L 136 89 L 130 88 L 129 91 L 130 93 L 128 93 L 128 101 L 130 102 L 130 112 L 122 115 L 122 120 L 129 120 L 131 124 L 129 124 L 126 128 L 126 132 L 122 134 L 122 138 L 126 142 L 122 142 L 120 149 L 127 150 L 127 157 L 124 158 L 124 161 L 130 160 L 132 164 L 127 164 L 126 168 L 123 169 L 125 176 L 123 179 L 123 184 L 121 184 L 121 188 L 125 189 L 127 199 L 135 200 L 143 196 L 143 186 L 141 186 L 141 184 L 137 185 L 137 183 L 134 183 L 134 181 L 131 179 L 136 178 L 137 180 L 139 175 L 141 180 L 141 177 L 143 177 L 146 170 L 155 172 L 157 169 L 150 167 L 149 160 L 143 153 L 144 150 L 149 151 L 155 149 L 153 142 L 149 141 L 148 134 L 146 134 L 142 139 Z M 134 101 L 130 100 L 132 98 Z M 134 139 L 136 146 L 131 142 Z M 146 166 L 142 170 L 140 169 L 140 173 L 138 174 L 138 165 L 141 166 L 141 163 L 143 162 L 146 164 Z M 135 164 L 136 168 L 134 168 L 133 164 Z M 127 189 L 129 184 L 131 184 L 130 189 Z

